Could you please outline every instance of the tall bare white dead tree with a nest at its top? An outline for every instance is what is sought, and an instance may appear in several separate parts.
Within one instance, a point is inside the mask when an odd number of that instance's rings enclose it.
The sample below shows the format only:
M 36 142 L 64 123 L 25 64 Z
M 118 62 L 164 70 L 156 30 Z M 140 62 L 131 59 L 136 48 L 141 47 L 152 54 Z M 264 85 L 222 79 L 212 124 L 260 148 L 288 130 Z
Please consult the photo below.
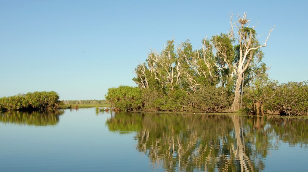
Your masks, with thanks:
M 255 26 L 249 28 L 249 20 L 246 19 L 246 13 L 242 17 L 239 17 L 239 20 L 234 22 L 232 21 L 233 15 L 229 16 L 231 30 L 229 32 L 230 39 L 237 40 L 238 44 L 240 45 L 240 58 L 237 63 L 229 64 L 230 67 L 233 68 L 234 75 L 236 76 L 236 84 L 234 90 L 234 101 L 231 107 L 231 110 L 238 110 L 239 109 L 239 99 L 240 99 L 240 88 L 241 83 L 243 80 L 243 73 L 250 65 L 250 62 L 253 58 L 253 50 L 258 50 L 261 47 L 266 47 L 266 42 L 270 37 L 271 32 L 274 28 L 271 28 L 269 31 L 268 36 L 265 39 L 263 45 L 254 44 L 254 40 L 257 39 L 259 36 L 254 37 L 254 29 Z M 237 29 L 237 34 L 234 34 L 234 28 Z

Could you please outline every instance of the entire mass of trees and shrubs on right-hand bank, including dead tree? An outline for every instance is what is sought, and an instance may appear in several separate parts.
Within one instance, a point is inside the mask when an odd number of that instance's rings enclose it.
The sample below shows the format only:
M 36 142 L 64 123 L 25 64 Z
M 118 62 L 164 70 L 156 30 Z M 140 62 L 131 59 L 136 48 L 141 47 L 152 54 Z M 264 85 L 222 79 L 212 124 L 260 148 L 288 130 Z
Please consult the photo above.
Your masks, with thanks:
M 235 22 L 231 16 L 230 24 L 230 32 L 204 38 L 198 49 L 189 40 L 168 40 L 135 68 L 138 87 L 111 88 L 107 101 L 120 110 L 307 114 L 307 82 L 268 78 L 260 48 L 273 29 L 261 44 L 245 13 Z

